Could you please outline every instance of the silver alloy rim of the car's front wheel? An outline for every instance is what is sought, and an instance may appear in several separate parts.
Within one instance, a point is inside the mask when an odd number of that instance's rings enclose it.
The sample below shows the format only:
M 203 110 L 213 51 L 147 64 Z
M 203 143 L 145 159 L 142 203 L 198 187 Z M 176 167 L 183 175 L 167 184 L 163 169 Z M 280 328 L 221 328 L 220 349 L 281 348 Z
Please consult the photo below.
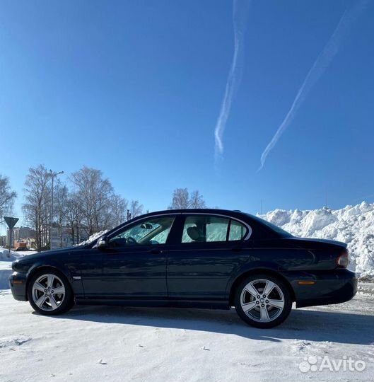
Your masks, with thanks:
M 43 311 L 54 311 L 65 297 L 62 280 L 55 274 L 42 274 L 33 284 L 33 301 Z

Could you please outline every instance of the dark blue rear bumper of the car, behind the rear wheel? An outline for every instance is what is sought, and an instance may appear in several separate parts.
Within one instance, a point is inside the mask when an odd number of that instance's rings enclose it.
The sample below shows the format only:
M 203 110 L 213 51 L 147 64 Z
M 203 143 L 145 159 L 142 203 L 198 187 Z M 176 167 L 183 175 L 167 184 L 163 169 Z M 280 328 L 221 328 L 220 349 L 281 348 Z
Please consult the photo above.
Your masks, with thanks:
M 314 284 L 300 285 L 300 281 Z M 349 301 L 357 292 L 357 277 L 349 270 L 306 273 L 291 281 L 296 308 Z

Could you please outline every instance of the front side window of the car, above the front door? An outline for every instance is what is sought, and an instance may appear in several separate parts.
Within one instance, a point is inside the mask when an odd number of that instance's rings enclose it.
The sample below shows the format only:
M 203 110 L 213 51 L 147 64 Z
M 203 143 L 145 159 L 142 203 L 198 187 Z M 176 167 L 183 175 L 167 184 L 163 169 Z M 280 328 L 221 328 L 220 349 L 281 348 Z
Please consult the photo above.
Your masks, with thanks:
M 122 247 L 126 245 L 165 244 L 168 240 L 174 216 L 160 216 L 139 221 L 109 240 L 109 245 Z

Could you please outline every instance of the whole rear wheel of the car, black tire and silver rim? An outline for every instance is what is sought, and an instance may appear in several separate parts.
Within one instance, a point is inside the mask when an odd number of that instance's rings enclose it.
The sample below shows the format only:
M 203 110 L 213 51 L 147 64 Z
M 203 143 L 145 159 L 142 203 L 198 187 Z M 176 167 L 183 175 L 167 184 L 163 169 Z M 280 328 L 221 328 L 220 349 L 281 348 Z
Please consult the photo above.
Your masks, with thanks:
M 264 329 L 283 323 L 292 308 L 287 285 L 269 274 L 252 274 L 242 280 L 235 290 L 234 302 L 245 323 Z

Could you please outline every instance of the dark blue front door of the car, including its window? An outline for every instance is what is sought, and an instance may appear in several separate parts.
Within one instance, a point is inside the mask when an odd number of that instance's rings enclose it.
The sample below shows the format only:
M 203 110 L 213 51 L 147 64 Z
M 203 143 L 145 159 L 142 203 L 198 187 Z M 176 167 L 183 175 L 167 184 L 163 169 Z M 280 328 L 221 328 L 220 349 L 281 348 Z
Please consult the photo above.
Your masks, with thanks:
M 103 250 L 103 297 L 167 299 L 168 235 L 175 216 L 152 216 L 129 224 L 107 238 Z

